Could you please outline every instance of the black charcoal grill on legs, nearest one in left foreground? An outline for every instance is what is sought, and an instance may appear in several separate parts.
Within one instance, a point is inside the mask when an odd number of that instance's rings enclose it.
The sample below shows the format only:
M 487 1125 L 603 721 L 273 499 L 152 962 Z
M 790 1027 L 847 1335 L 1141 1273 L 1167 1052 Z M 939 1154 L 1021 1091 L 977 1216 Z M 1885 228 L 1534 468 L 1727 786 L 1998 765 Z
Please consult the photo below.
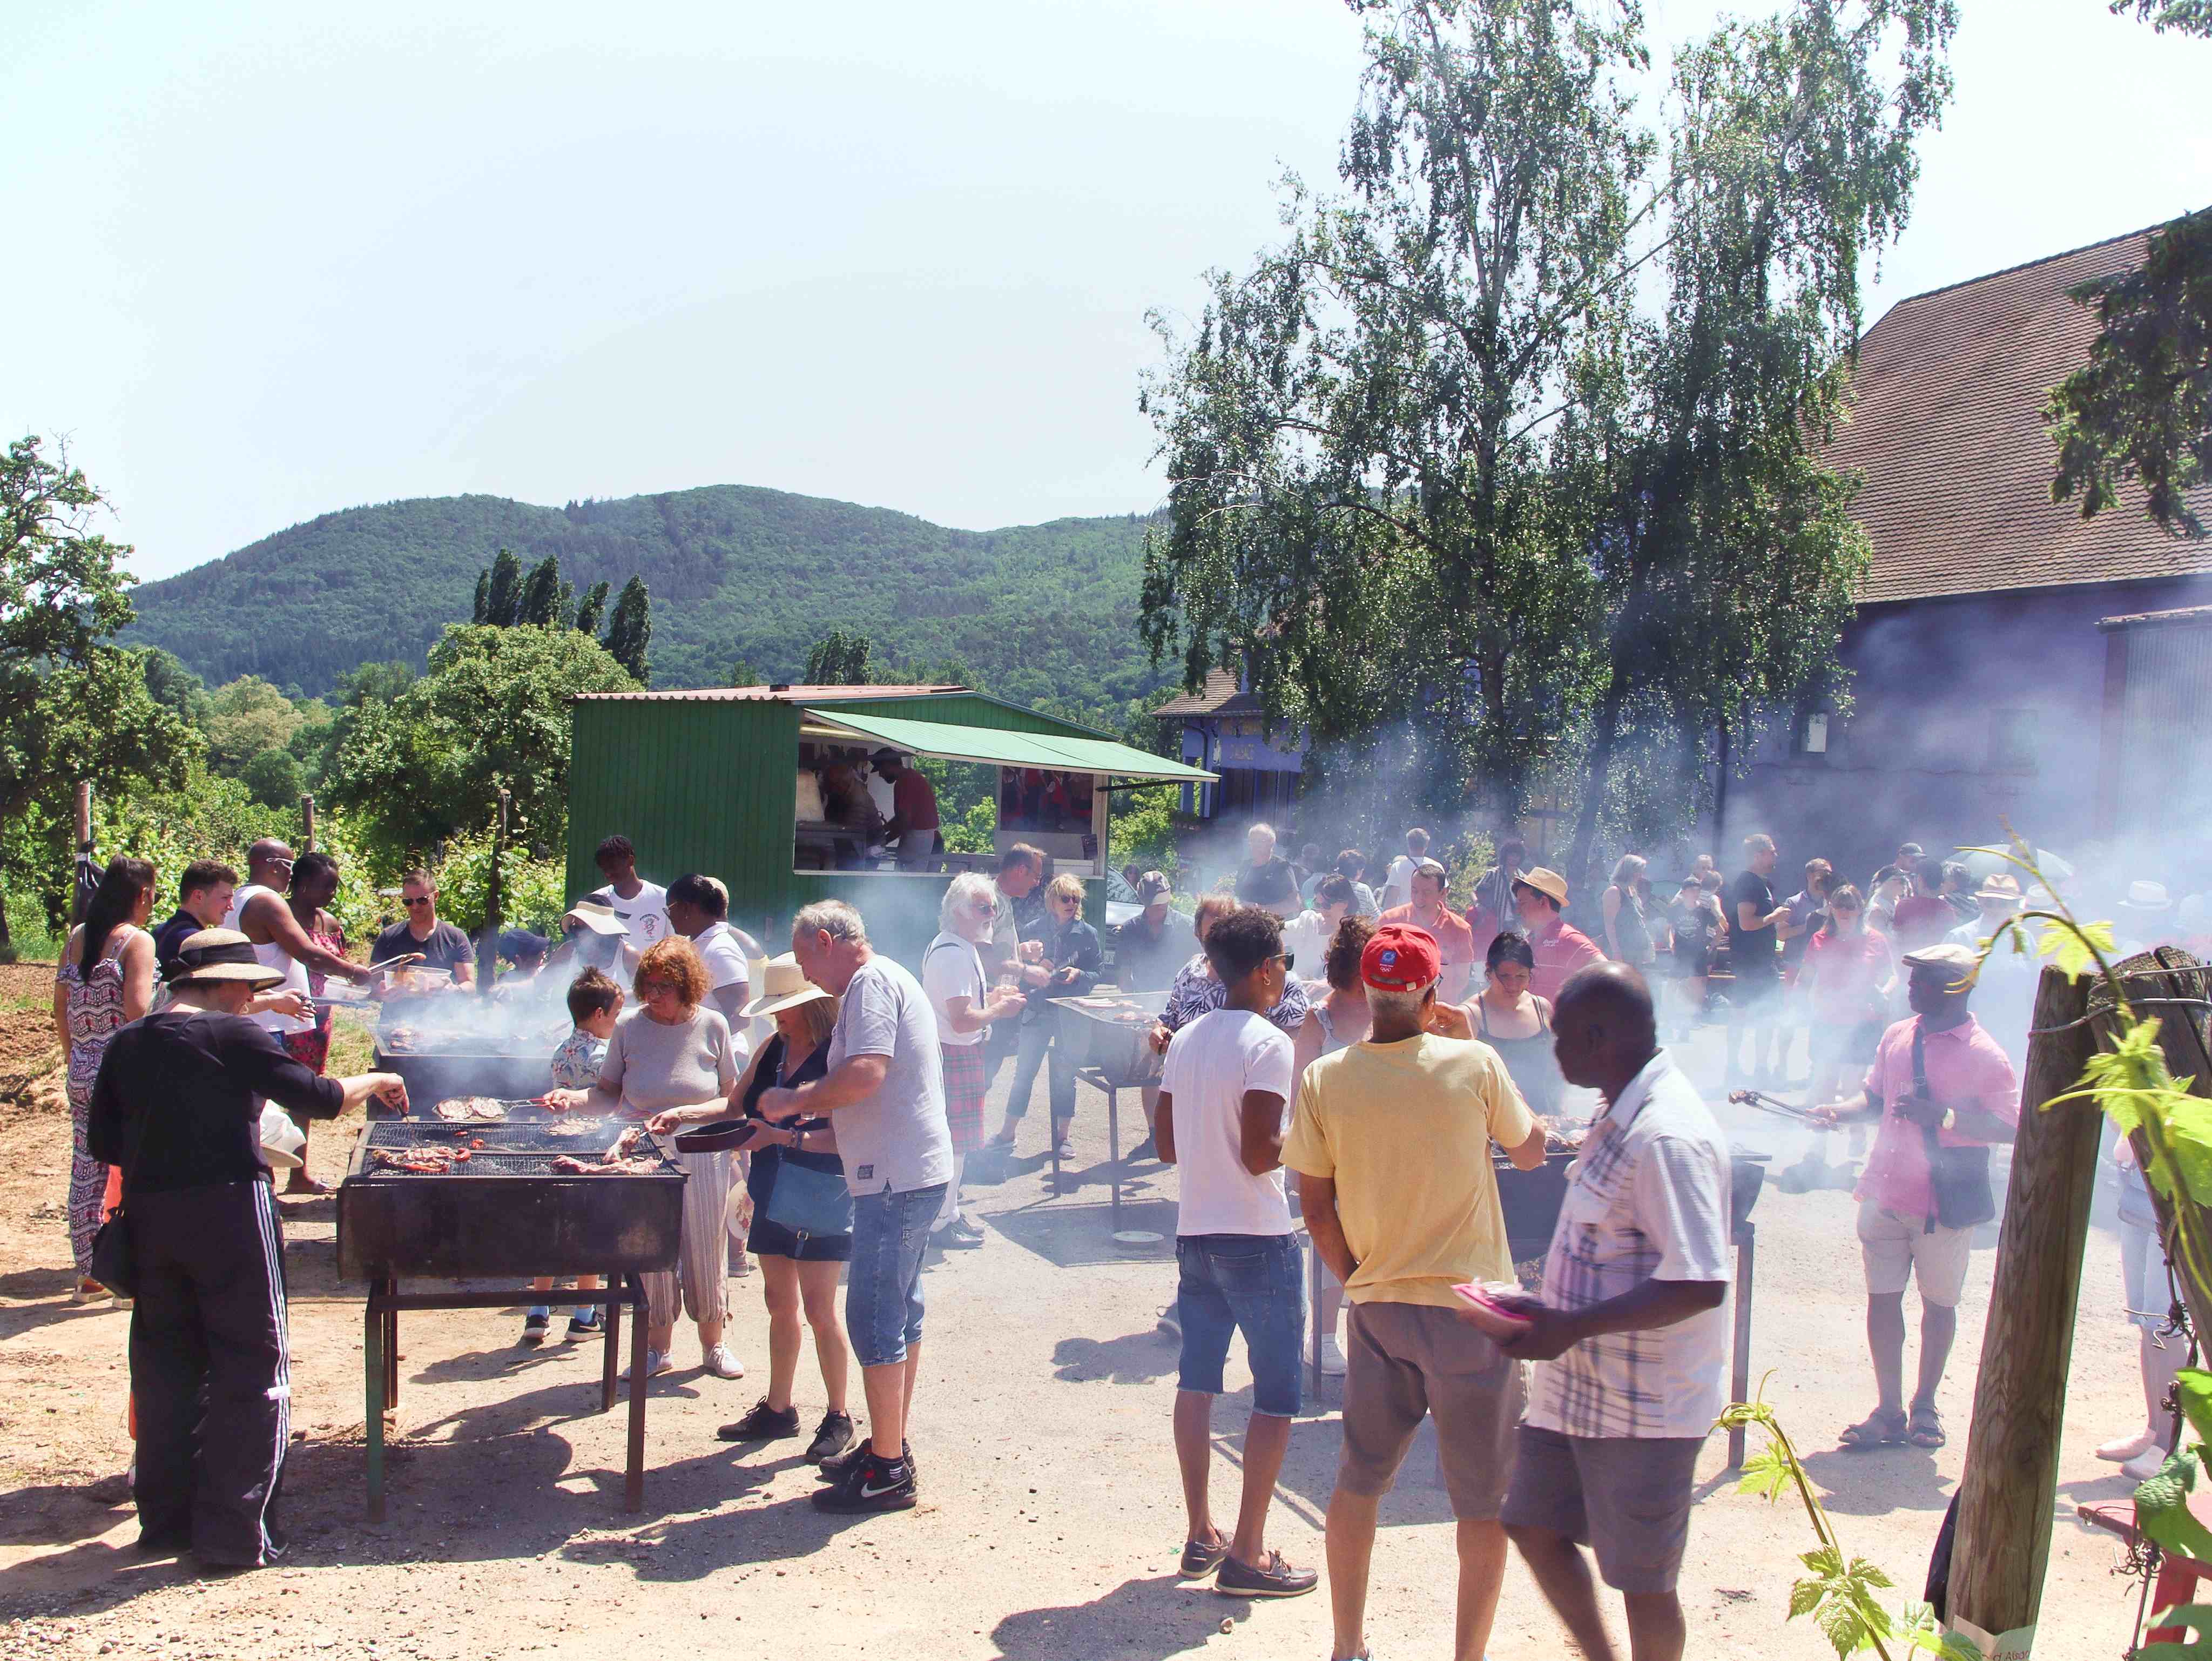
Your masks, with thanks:
M 478 1093 L 482 1095 L 482 1093 Z M 442 1097 L 438 1097 L 442 1099 Z M 429 1099 L 422 1104 L 429 1106 Z M 657 1141 L 637 1150 L 659 1170 L 571 1174 L 560 1157 L 593 1159 L 626 1128 L 619 1119 L 584 1137 L 557 1137 L 553 1119 L 529 1101 L 504 1104 L 509 1119 L 449 1124 L 436 1117 L 378 1119 L 363 1128 L 338 1183 L 338 1274 L 367 1281 L 363 1373 L 367 1380 L 369 1519 L 385 1515 L 385 1413 L 398 1407 L 398 1318 L 403 1309 L 504 1309 L 513 1287 L 489 1292 L 400 1292 L 400 1276 L 507 1278 L 531 1274 L 599 1274 L 597 1292 L 562 1294 L 562 1303 L 606 1309 L 599 1365 L 599 1411 L 615 1404 L 615 1358 L 622 1312 L 630 1331 L 630 1427 L 624 1506 L 644 1506 L 646 1458 L 646 1289 L 644 1274 L 677 1261 L 684 1223 L 684 1170 Z M 376 1150 L 469 1148 L 451 1172 L 407 1172 L 376 1166 Z

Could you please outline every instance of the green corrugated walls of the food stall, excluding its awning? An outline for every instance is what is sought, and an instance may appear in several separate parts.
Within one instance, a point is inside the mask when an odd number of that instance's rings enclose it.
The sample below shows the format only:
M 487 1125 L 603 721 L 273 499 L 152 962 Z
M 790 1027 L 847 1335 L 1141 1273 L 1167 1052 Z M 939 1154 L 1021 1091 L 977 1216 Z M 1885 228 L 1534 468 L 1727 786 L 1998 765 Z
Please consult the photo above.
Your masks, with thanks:
M 891 955 L 916 962 L 929 944 L 927 920 L 949 878 L 856 871 L 792 871 L 792 823 L 799 770 L 794 703 L 714 703 L 706 699 L 580 699 L 568 741 L 568 898 L 599 887 L 591 863 L 599 838 L 622 832 L 637 845 L 637 869 L 653 882 L 686 871 L 719 876 L 730 887 L 730 920 L 761 936 L 770 951 L 787 949 L 792 911 L 810 900 L 849 900 L 869 918 L 869 933 Z M 987 697 L 818 699 L 816 708 L 889 714 L 911 721 L 1000 732 L 1104 737 L 1071 721 L 1020 710 Z M 898 907 L 885 907 L 896 882 Z M 914 905 L 916 885 L 929 905 Z M 1086 913 L 1104 905 L 1091 882 Z M 887 918 L 887 911 L 896 916 Z M 1093 916 L 1093 922 L 1099 918 Z M 763 936 L 763 929 L 770 933 Z

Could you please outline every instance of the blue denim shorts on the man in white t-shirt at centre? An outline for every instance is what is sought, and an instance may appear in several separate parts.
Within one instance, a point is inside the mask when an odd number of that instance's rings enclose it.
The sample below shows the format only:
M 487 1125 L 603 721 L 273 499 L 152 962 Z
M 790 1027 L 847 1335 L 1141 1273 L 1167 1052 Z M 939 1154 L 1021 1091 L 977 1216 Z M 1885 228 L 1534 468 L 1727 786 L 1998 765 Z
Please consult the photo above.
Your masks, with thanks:
M 1175 1314 L 1183 1325 L 1177 1385 L 1221 1393 L 1230 1338 L 1245 1336 L 1252 1362 L 1252 1411 L 1294 1418 L 1298 1411 L 1298 1345 L 1305 1338 L 1305 1263 L 1296 1234 L 1183 1234 L 1175 1241 L 1181 1285 Z

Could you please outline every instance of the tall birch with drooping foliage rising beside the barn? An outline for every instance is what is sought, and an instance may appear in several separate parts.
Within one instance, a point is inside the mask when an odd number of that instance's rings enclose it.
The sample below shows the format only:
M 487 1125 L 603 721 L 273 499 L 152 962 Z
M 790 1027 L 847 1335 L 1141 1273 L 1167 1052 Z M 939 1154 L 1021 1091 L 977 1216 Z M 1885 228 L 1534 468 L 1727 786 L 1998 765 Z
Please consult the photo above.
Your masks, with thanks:
M 1188 341 L 1155 318 L 1141 628 L 1186 686 L 1243 668 L 1340 779 L 1601 816 L 1630 754 L 1697 779 L 1717 714 L 1829 675 L 1858 544 L 1809 442 L 1951 9 L 1728 27 L 1683 53 L 1666 146 L 1635 7 L 1363 11 L 1345 192 L 1292 179 L 1287 243 L 1217 274 Z

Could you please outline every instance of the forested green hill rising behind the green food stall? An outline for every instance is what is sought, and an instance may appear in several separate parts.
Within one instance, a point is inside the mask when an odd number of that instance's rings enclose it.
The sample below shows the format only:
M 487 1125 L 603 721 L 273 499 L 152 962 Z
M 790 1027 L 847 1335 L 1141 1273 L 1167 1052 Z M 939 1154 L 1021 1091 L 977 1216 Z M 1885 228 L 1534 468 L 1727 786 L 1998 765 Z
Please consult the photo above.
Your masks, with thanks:
M 807 646 L 845 628 L 874 639 L 876 661 L 958 659 L 1022 703 L 1119 703 L 1164 683 L 1137 639 L 1144 524 L 947 531 L 741 484 L 566 509 L 440 495 L 325 513 L 148 582 L 126 639 L 166 646 L 210 686 L 261 675 L 321 694 L 356 664 L 420 666 L 507 546 L 524 568 L 560 555 L 577 593 L 644 575 L 655 686 L 721 686 L 737 659 L 799 679 Z

